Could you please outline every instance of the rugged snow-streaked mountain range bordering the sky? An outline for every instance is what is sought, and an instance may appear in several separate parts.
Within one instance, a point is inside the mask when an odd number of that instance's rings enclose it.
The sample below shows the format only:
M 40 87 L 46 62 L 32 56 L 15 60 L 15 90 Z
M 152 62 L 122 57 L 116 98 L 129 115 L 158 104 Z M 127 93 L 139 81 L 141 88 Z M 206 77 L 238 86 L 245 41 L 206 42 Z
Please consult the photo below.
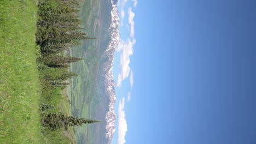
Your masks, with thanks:
M 115 115 L 114 111 L 114 104 L 115 104 L 115 82 L 113 78 L 113 60 L 114 60 L 114 52 L 117 49 L 119 44 L 119 13 L 117 4 L 114 4 L 111 1 L 113 9 L 111 10 L 111 23 L 108 29 L 110 34 L 110 41 L 106 51 L 103 53 L 101 57 L 101 64 L 100 69 L 101 72 L 99 73 L 99 79 L 101 79 L 100 85 L 105 87 L 105 94 L 109 98 L 109 105 L 108 105 L 108 112 L 106 113 L 106 143 L 111 143 L 113 135 L 115 133 L 115 120 L 117 116 Z

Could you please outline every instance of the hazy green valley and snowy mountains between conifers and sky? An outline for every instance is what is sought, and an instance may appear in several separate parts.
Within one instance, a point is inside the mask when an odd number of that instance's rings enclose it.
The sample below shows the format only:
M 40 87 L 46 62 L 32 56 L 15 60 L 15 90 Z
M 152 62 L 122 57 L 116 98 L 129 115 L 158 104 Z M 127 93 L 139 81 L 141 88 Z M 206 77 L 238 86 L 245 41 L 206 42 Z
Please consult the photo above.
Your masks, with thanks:
M 119 44 L 117 1 L 88 0 L 83 7 L 84 31 L 97 39 L 71 50 L 73 56 L 84 58 L 83 62 L 72 64 L 72 71 L 79 74 L 71 84 L 72 114 L 102 122 L 76 127 L 75 136 L 77 143 L 111 143 L 117 119 L 112 72 Z

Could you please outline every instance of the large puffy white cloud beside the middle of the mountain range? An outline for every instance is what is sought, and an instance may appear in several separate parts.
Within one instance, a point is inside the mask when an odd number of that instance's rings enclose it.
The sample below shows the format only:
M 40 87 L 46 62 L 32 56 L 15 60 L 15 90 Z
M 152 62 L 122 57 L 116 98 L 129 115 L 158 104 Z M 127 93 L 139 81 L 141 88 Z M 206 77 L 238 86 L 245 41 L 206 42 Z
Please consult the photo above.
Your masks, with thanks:
M 121 51 L 120 55 L 120 66 L 121 71 L 118 75 L 117 87 L 121 87 L 121 81 L 125 80 L 130 73 L 130 56 L 133 54 L 133 45 L 135 44 L 135 40 L 128 38 L 126 41 L 120 40 L 117 51 Z

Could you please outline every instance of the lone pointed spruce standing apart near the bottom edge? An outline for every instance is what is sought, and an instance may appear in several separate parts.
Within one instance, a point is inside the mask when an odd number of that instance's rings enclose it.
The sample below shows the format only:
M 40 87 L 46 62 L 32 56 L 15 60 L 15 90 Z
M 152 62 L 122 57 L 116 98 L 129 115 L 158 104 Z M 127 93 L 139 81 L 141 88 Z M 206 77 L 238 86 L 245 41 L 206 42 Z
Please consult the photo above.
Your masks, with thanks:
M 86 119 L 86 118 L 78 118 L 72 116 L 65 116 L 63 113 L 48 113 L 44 114 L 42 123 L 44 127 L 48 127 L 51 130 L 57 130 L 60 128 L 68 129 L 68 127 L 73 127 L 74 125 L 82 126 L 83 124 L 91 124 L 100 121 Z

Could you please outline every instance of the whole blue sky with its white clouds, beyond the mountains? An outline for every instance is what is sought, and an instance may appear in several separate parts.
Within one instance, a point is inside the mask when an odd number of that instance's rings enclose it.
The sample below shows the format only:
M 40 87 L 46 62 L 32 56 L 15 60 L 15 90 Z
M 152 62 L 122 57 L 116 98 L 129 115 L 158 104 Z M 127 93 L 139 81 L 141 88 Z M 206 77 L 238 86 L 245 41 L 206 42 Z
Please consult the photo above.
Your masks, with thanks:
M 112 143 L 256 143 L 255 5 L 120 0 Z

